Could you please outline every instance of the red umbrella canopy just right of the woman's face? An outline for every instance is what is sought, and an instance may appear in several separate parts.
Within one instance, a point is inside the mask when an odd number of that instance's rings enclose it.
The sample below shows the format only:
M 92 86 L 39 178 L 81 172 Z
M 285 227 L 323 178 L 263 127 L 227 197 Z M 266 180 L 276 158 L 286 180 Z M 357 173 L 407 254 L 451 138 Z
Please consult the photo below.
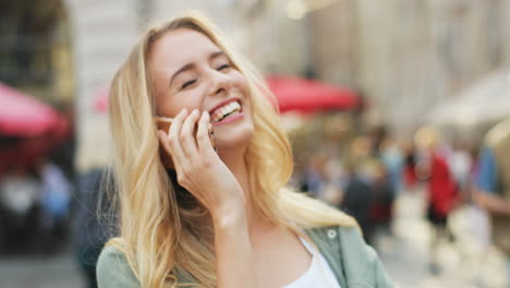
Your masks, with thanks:
M 353 110 L 360 100 L 353 91 L 320 81 L 295 76 L 269 76 L 266 81 L 280 112 Z

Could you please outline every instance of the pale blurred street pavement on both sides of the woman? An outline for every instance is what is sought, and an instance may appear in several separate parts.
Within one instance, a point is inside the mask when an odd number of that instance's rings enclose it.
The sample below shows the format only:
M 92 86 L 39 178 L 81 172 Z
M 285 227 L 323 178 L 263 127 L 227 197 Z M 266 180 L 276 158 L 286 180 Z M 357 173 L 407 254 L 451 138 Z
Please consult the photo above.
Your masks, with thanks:
M 503 259 L 490 245 L 476 245 L 469 209 L 452 217 L 456 242 L 440 245 L 441 273 L 428 268 L 430 229 L 424 219 L 423 190 L 403 193 L 396 203 L 392 236 L 380 236 L 377 250 L 399 287 L 505 287 Z M 72 250 L 53 256 L 0 259 L 0 288 L 85 288 Z

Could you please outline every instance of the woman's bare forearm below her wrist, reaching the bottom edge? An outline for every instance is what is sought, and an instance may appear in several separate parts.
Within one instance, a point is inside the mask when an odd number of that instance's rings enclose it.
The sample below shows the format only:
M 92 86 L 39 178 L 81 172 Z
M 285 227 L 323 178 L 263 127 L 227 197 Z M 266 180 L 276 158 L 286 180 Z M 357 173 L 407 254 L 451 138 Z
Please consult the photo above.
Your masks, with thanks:
M 214 219 L 219 288 L 255 288 L 253 251 L 244 211 Z

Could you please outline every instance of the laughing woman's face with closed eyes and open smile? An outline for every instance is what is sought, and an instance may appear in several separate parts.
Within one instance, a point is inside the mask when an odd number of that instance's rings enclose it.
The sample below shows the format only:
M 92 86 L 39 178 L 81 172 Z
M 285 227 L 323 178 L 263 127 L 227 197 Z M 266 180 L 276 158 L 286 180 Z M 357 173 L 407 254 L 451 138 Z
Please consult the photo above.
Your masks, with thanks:
M 168 32 L 153 44 L 149 61 L 159 116 L 208 111 L 220 152 L 247 144 L 253 120 L 246 79 L 207 36 Z

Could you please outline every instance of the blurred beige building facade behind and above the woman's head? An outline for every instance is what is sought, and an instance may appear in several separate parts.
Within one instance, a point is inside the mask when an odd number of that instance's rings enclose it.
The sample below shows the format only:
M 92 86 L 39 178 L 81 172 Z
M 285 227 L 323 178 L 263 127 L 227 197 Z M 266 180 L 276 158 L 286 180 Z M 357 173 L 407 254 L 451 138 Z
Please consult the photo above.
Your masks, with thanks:
M 371 121 L 400 134 L 413 132 L 439 101 L 510 64 L 510 0 L 64 1 L 78 139 L 94 131 L 86 127 L 97 122 L 95 95 L 141 31 L 185 9 L 206 11 L 264 73 L 312 75 L 360 91 Z

